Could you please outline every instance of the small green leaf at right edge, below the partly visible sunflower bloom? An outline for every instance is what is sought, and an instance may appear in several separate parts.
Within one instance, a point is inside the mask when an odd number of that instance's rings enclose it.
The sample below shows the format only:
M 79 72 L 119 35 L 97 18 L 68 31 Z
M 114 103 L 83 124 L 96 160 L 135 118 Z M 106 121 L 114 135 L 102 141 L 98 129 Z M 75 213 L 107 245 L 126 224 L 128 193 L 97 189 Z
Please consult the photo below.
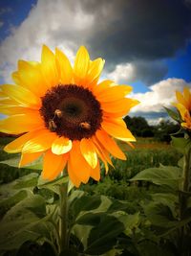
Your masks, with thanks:
M 190 138 L 177 138 L 174 136 L 171 136 L 172 138 L 172 146 L 175 147 L 178 151 L 180 151 L 181 153 L 186 153 L 187 151 L 189 151 L 191 149 L 191 140 Z

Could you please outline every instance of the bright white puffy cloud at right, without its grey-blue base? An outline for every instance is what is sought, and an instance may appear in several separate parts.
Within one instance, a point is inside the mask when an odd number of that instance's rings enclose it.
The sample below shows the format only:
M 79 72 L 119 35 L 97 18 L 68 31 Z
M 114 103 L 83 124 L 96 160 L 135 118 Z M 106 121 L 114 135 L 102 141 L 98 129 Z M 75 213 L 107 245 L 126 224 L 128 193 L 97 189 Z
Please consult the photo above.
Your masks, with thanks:
M 146 93 L 135 93 L 131 97 L 137 99 L 140 104 L 133 107 L 131 113 L 161 112 L 163 106 L 171 106 L 176 102 L 175 91 L 182 91 L 184 86 L 191 86 L 191 82 L 181 79 L 167 79 L 149 87 Z

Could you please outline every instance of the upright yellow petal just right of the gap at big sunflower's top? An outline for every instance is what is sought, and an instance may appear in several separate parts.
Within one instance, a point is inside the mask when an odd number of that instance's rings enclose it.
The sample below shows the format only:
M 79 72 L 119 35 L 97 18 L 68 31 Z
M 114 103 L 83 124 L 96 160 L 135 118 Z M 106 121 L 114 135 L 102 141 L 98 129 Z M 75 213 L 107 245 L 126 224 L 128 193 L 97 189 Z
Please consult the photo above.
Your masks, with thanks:
M 81 81 L 86 78 L 90 63 L 90 57 L 87 49 L 81 46 L 77 51 L 74 60 L 74 82 L 81 85 Z

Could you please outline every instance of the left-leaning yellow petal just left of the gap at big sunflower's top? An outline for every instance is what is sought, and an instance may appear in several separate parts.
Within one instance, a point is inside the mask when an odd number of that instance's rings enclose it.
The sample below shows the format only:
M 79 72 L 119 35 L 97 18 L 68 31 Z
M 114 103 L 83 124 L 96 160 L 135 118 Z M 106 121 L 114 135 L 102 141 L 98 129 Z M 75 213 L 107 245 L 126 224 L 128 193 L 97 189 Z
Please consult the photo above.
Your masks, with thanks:
M 55 60 L 61 84 L 70 84 L 73 79 L 73 68 L 69 59 L 59 50 L 55 49 Z

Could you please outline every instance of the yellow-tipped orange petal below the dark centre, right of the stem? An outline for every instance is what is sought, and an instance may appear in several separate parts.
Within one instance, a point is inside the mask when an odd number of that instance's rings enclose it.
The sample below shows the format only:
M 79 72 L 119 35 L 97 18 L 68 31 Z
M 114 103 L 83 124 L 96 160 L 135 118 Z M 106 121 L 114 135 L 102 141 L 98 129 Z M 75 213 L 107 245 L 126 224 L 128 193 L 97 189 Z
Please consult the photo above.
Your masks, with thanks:
M 87 163 L 94 169 L 97 165 L 97 155 L 94 143 L 90 139 L 82 139 L 80 142 L 80 151 Z

